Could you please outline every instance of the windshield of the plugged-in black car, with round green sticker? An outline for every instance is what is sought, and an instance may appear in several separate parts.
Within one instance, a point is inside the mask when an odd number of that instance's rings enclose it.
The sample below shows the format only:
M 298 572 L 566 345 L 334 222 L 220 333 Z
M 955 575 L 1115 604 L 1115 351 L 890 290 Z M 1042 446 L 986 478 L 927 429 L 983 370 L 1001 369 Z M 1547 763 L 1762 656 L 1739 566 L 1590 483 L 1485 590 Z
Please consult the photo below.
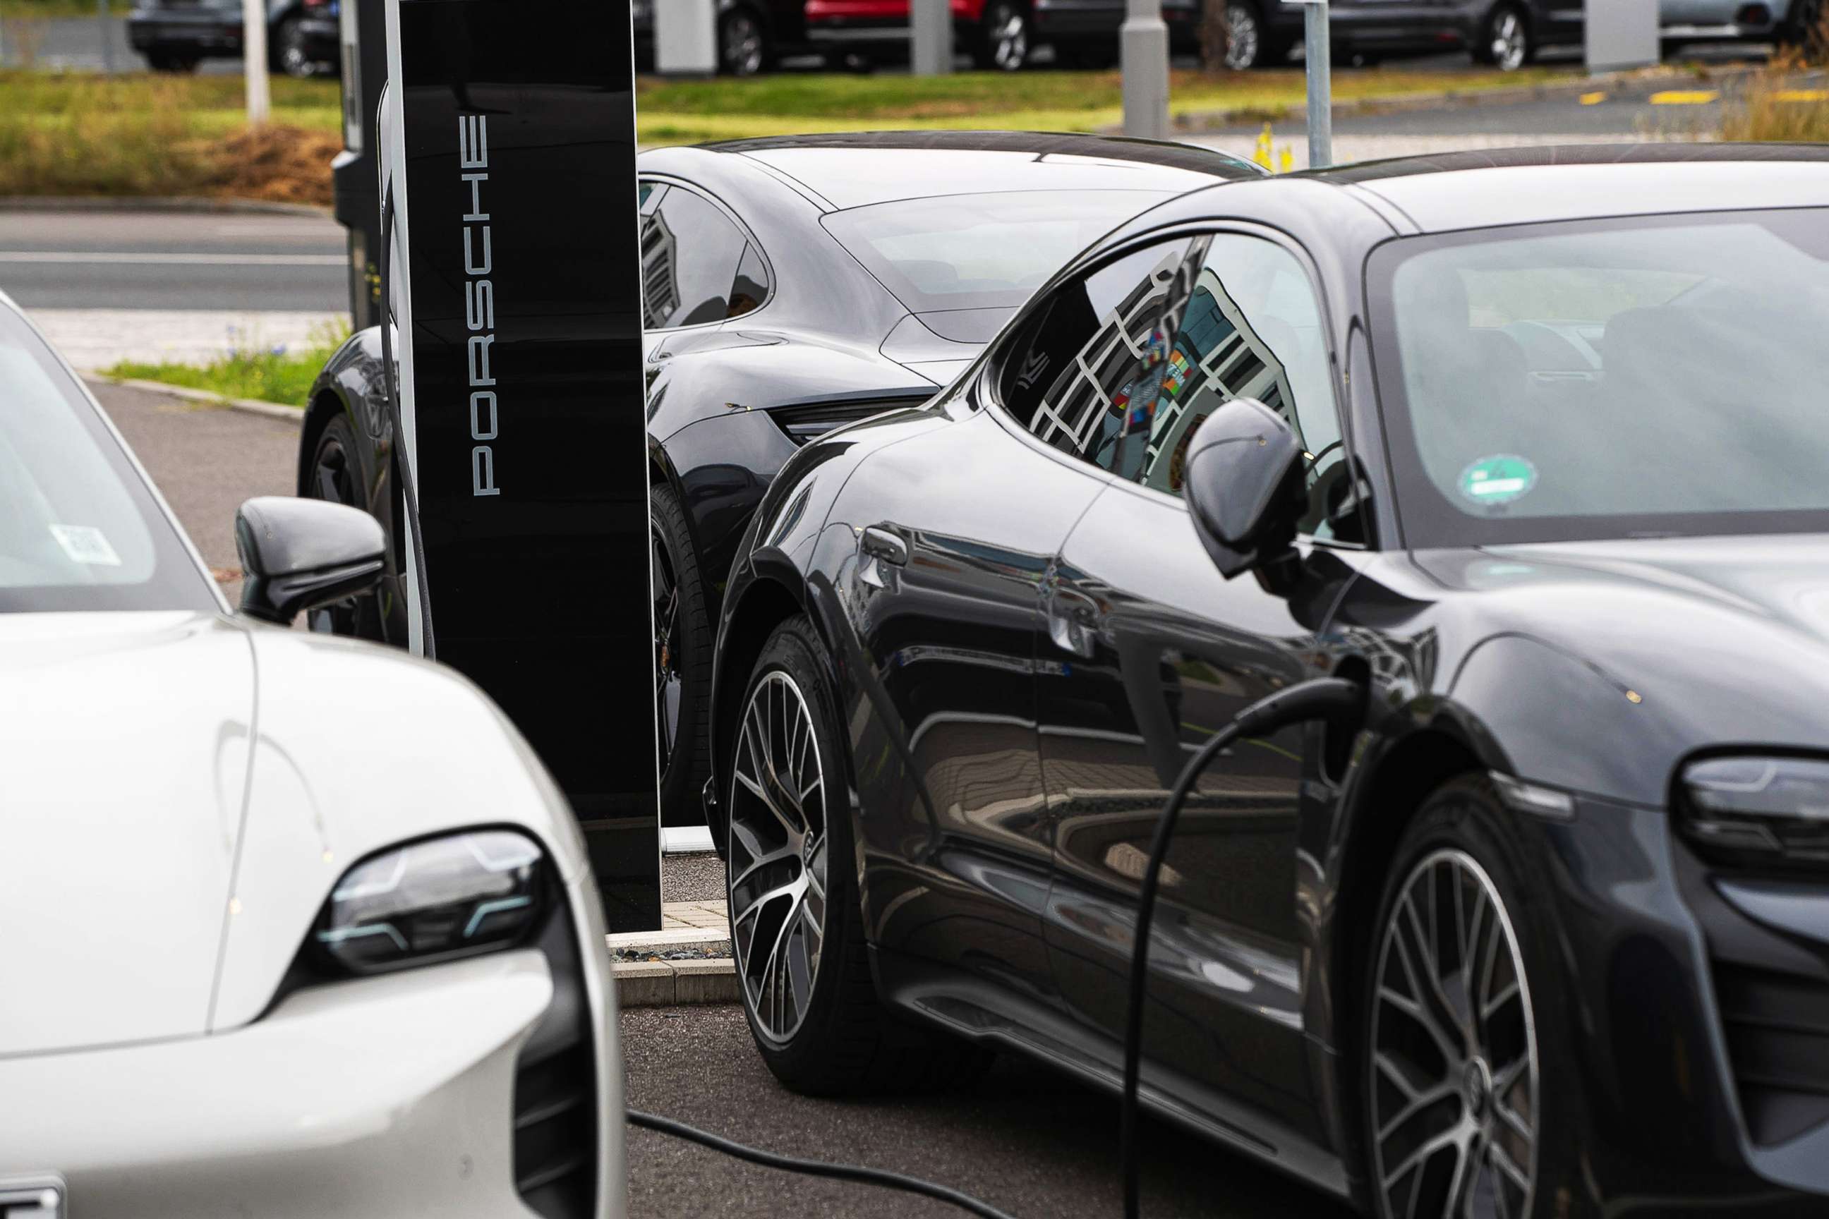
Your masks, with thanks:
M 1829 208 L 1410 238 L 1370 294 L 1408 545 L 1829 528 Z

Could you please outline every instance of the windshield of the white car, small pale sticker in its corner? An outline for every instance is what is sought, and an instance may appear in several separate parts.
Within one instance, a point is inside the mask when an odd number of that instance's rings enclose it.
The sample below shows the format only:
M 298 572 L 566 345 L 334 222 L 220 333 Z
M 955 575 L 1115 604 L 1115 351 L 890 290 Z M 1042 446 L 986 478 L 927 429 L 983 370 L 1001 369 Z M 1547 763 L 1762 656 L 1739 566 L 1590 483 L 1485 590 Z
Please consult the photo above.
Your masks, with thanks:
M 0 303 L 0 612 L 219 609 L 82 389 Z

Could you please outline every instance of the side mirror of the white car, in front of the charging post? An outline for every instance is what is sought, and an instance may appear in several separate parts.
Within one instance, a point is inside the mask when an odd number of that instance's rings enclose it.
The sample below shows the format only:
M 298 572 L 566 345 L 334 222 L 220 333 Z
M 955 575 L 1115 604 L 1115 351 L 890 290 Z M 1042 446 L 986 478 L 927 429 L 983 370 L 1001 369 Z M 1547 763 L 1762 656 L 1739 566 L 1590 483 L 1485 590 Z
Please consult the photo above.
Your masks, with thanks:
M 241 612 L 282 627 L 304 610 L 368 592 L 388 559 L 375 517 L 324 499 L 251 499 L 236 514 L 234 541 Z

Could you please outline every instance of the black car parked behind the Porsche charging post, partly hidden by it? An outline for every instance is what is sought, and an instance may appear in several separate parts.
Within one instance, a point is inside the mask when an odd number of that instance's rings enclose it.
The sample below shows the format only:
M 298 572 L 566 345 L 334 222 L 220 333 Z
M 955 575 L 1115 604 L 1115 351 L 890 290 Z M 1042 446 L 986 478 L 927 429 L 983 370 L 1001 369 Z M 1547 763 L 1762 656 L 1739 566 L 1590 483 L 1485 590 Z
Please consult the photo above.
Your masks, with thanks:
M 662 817 L 680 826 L 704 821 L 724 576 L 796 446 L 933 397 L 1118 223 L 1262 170 L 1182 144 L 1010 132 L 757 139 L 636 164 Z M 366 508 L 395 539 L 380 592 L 313 627 L 404 643 L 386 402 L 369 329 L 311 387 L 298 493 Z

